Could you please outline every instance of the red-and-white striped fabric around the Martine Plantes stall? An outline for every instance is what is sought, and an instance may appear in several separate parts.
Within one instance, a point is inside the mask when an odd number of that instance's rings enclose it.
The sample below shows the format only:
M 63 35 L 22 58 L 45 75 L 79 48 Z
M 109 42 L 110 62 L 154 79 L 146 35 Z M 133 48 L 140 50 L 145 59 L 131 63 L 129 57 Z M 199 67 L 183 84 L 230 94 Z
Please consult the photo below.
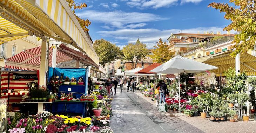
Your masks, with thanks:
M 18 72 L 16 72 L 18 73 Z M 36 72 L 28 72 L 29 74 L 37 74 Z M 21 73 L 22 74 L 22 73 Z M 1 90 L 8 89 L 8 73 L 2 72 L 1 74 Z M 26 83 L 29 81 L 12 81 L 13 73 L 10 73 L 10 85 L 9 89 L 14 89 L 17 91 L 23 91 L 24 89 L 27 90 L 28 87 L 26 86 Z M 35 80 L 35 82 L 38 82 Z M 9 95 L 9 106 L 12 103 L 19 103 L 21 101 L 21 97 L 23 95 L 27 95 L 28 93 L 1 93 L 1 99 L 6 99 L 8 102 L 8 95 Z

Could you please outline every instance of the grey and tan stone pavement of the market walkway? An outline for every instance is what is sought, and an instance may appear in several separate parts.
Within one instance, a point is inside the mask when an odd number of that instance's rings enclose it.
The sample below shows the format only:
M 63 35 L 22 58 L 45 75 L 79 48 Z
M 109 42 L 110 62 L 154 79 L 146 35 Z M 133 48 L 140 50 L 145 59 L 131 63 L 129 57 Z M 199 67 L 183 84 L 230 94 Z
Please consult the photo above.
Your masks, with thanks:
M 115 133 L 256 133 L 256 122 L 210 122 L 209 118 L 187 117 L 178 111 L 157 111 L 151 98 L 123 90 L 112 102 L 110 126 Z

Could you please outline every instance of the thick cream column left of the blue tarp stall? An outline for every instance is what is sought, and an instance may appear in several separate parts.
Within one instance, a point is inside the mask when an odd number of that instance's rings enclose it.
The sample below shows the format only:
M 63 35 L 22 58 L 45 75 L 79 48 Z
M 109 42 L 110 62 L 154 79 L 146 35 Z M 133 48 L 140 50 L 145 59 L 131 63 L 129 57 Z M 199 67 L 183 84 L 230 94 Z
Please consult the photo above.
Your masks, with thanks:
M 41 47 L 41 65 L 40 65 L 40 72 L 39 72 L 39 85 L 45 86 L 45 71 L 46 66 L 48 67 L 48 64 L 46 65 L 46 38 L 42 38 L 42 47 Z

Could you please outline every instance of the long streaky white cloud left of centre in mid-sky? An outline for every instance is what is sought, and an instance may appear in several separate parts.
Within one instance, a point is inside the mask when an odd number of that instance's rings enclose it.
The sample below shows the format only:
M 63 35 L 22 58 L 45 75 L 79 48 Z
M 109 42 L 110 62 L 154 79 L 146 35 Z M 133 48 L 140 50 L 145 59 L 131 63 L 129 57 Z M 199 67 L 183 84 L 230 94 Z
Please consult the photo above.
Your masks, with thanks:
M 101 12 L 95 10 L 88 10 L 86 12 L 77 13 L 77 15 L 84 16 L 88 18 L 90 21 L 104 23 L 107 26 L 111 26 L 111 28 L 115 27 L 119 29 L 143 27 L 146 25 L 145 22 L 153 22 L 168 19 L 151 13 L 122 11 Z

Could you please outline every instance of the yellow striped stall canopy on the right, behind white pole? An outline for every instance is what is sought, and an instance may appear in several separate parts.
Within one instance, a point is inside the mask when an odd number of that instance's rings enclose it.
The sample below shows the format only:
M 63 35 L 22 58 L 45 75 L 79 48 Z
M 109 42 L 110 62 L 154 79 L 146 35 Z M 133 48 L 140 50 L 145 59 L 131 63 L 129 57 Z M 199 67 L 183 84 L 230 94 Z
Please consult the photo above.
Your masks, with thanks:
M 228 70 L 230 67 L 235 68 L 236 61 L 235 58 L 230 56 L 231 52 L 233 52 L 233 50 L 194 58 L 193 60 L 218 67 L 218 69 L 210 70 L 210 72 L 222 73 L 222 76 L 224 76 L 224 71 Z M 245 71 L 247 75 L 256 74 L 255 56 L 248 53 L 240 54 L 240 72 L 242 71 Z

